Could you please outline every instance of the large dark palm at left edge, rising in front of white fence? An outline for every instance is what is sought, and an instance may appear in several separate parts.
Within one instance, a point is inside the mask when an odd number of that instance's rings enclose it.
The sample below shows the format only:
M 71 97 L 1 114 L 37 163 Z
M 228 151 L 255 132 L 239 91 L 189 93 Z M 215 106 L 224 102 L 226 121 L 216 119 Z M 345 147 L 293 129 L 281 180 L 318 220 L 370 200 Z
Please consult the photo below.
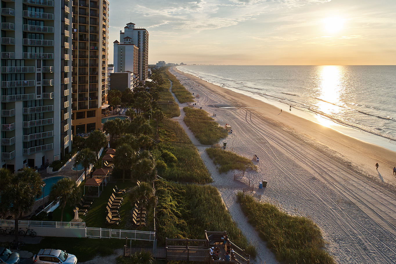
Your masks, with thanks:
M 6 173 L 2 172 L 2 177 Z M 23 214 L 30 213 L 36 198 L 42 194 L 43 181 L 39 173 L 31 168 L 26 168 L 17 175 L 11 174 L 6 186 L 2 186 L 0 196 L 0 211 L 4 215 L 10 213 L 15 218 L 15 230 L 19 230 L 18 221 Z M 15 232 L 18 241 L 18 232 Z

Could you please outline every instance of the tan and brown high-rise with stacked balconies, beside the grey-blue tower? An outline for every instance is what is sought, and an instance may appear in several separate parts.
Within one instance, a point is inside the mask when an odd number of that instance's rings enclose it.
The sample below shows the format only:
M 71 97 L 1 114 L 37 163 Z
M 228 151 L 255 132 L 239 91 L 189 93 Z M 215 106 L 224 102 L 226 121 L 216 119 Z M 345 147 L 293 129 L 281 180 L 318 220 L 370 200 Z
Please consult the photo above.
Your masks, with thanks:
M 73 135 L 101 128 L 107 104 L 109 1 L 73 1 L 72 6 Z

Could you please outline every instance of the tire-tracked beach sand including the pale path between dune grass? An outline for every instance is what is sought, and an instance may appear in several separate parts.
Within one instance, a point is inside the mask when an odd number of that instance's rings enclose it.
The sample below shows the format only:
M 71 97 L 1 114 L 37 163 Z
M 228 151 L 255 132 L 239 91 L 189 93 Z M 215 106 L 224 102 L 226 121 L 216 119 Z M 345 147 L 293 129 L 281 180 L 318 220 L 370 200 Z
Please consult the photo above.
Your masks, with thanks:
M 396 259 L 396 152 L 348 137 L 284 109 L 179 72 L 188 91 L 199 94 L 196 107 L 209 112 L 233 133 L 220 142 L 253 160 L 257 172 L 234 180 L 234 172 L 219 174 L 205 149 L 194 139 L 217 187 L 242 232 L 258 246 L 253 263 L 276 263 L 265 243 L 247 223 L 235 194 L 249 180 L 262 201 L 276 204 L 292 215 L 310 217 L 322 229 L 327 250 L 338 263 L 395 263 Z M 224 108 L 226 107 L 226 108 Z M 216 114 L 216 116 L 214 116 Z M 222 145 L 222 144 L 221 144 Z M 379 169 L 375 163 L 379 163 Z M 260 181 L 268 182 L 259 189 Z

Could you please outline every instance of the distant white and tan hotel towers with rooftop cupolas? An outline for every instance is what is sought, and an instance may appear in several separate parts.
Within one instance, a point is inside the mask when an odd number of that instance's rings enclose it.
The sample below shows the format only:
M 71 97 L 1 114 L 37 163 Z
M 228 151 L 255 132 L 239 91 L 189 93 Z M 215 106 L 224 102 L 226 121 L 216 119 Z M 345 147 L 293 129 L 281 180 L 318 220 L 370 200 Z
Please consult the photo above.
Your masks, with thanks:
M 114 41 L 114 72 L 130 71 L 142 84 L 148 78 L 148 32 L 126 24 L 120 41 Z

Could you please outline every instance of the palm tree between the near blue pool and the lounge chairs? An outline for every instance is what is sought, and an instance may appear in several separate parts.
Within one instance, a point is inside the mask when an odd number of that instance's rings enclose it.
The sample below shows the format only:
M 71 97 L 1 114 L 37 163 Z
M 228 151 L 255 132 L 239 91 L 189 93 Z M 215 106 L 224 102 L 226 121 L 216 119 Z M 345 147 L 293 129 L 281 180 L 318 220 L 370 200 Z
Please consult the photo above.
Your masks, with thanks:
M 66 203 L 76 204 L 81 198 L 81 189 L 77 183 L 69 177 L 58 180 L 52 185 L 49 192 L 49 199 L 58 202 L 61 205 L 61 222 L 63 221 L 63 211 Z

